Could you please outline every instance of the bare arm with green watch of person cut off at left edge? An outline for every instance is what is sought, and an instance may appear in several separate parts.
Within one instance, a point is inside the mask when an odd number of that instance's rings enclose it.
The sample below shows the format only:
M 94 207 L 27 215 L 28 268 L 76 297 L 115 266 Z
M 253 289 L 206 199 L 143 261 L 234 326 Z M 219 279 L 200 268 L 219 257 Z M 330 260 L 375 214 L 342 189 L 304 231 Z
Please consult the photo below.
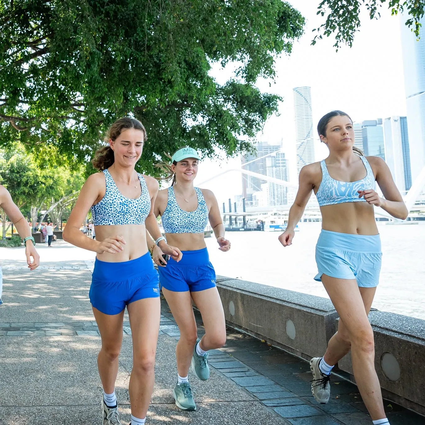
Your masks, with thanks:
M 31 228 L 26 221 L 26 218 L 22 215 L 19 208 L 12 201 L 11 195 L 8 190 L 0 184 L 0 207 L 3 208 L 6 215 L 10 218 L 10 221 L 16 227 L 22 239 L 31 236 Z M 25 255 L 27 259 L 28 268 L 30 270 L 36 269 L 40 264 L 40 255 L 38 255 L 35 246 L 31 239 L 25 242 Z M 32 261 L 31 261 L 32 257 Z

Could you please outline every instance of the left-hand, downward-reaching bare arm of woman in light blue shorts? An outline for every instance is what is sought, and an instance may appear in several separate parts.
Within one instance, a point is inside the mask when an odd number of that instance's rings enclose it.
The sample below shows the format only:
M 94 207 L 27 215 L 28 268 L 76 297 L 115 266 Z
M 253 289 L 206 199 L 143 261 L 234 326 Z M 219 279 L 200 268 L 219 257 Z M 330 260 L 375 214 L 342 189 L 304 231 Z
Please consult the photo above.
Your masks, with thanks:
M 294 204 L 289 209 L 288 224 L 285 231 L 279 236 L 279 241 L 283 246 L 292 244 L 292 239 L 295 235 L 295 226 L 303 216 L 307 202 L 310 199 L 313 191 L 313 173 L 312 166 L 314 164 L 305 165 L 301 168 L 298 180 L 298 191 L 295 197 Z

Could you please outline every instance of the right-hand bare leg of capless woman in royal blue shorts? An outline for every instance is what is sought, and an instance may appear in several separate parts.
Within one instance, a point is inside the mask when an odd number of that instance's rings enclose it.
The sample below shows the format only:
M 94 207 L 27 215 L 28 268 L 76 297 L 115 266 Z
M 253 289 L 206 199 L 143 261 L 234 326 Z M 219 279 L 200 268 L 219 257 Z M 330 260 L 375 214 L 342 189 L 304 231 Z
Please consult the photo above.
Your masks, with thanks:
M 146 418 L 155 381 L 154 367 L 161 303 L 159 297 L 144 298 L 128 304 L 127 311 L 133 337 L 133 370 L 128 387 L 131 414 L 134 417 L 132 424 L 142 424 Z

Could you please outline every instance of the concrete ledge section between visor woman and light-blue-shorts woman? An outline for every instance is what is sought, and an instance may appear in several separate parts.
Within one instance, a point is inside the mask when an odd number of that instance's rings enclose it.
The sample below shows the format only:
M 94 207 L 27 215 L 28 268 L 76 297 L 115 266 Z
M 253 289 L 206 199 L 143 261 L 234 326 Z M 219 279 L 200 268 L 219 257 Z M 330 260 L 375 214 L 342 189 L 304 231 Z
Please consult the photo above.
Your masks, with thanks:
M 337 312 L 326 298 L 222 276 L 217 287 L 230 326 L 306 360 L 323 354 L 335 333 Z

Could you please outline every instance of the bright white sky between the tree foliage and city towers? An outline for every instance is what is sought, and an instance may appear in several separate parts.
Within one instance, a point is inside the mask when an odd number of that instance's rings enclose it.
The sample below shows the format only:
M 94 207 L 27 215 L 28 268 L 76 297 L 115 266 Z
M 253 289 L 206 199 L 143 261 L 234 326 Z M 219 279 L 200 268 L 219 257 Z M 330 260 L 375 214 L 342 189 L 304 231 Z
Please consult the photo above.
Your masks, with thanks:
M 293 0 L 289 3 L 306 18 L 305 32 L 294 43 L 290 56 L 283 55 L 276 60 L 275 80 L 262 79 L 257 83 L 261 91 L 283 97 L 280 116 L 269 118 L 263 132 L 258 134 L 258 140 L 280 144 L 283 139 L 283 149 L 289 159 L 289 179 L 295 181 L 294 87 L 311 87 L 314 127 L 321 116 L 334 109 L 345 111 L 354 121 L 405 115 L 406 102 L 399 17 L 391 16 L 391 11 L 386 8 L 382 8 L 379 20 L 370 20 L 367 13 L 363 13 L 362 26 L 354 38 L 353 47 L 343 46 L 335 52 L 333 38 L 318 40 L 316 45 L 311 45 L 315 34 L 312 29 L 325 19 L 316 15 L 320 1 Z M 216 66 L 211 75 L 222 84 L 231 77 L 232 67 L 223 70 Z M 318 137 L 315 149 L 316 160 L 326 157 L 327 149 L 320 144 Z M 233 201 L 234 195 L 242 192 L 240 173 L 226 173 L 201 183 L 240 165 L 240 157 L 202 161 L 195 184 L 212 190 L 219 205 L 223 201 L 227 205 L 227 198 Z

